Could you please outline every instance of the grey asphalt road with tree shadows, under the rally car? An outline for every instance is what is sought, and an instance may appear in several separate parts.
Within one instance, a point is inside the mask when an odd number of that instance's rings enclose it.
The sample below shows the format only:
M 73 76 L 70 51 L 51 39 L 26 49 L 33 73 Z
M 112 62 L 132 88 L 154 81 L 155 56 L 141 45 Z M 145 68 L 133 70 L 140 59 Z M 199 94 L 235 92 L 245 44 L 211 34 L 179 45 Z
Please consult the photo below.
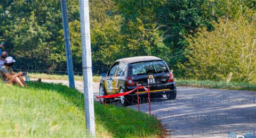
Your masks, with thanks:
M 93 84 L 95 94 L 98 85 Z M 76 87 L 83 91 L 82 82 Z M 118 100 L 113 104 L 121 106 Z M 138 105 L 127 108 L 138 110 Z M 148 102 L 140 109 L 149 113 Z M 256 92 L 178 87 L 175 100 L 152 98 L 151 114 L 161 120 L 168 137 L 228 137 L 230 132 L 256 137 Z

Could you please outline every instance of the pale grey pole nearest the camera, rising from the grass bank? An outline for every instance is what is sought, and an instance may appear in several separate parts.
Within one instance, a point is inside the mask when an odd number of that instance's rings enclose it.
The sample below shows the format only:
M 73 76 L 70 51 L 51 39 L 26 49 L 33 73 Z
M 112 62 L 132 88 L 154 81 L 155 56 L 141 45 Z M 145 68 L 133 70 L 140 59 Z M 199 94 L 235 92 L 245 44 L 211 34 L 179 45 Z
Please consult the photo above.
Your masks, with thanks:
M 86 129 L 95 135 L 89 0 L 79 0 Z

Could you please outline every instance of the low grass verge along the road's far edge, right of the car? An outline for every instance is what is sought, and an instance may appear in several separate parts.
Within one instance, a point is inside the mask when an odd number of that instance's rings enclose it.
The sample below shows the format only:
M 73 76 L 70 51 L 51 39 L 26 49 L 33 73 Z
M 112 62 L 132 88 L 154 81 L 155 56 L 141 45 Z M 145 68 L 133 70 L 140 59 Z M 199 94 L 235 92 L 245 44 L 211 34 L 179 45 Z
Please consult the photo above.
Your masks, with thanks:
M 235 83 L 229 82 L 228 84 L 223 81 L 195 81 L 195 80 L 178 80 L 175 81 L 178 87 L 200 87 L 200 88 L 213 88 L 213 89 L 229 89 L 229 90 L 247 90 L 256 91 L 256 85 L 250 83 Z

